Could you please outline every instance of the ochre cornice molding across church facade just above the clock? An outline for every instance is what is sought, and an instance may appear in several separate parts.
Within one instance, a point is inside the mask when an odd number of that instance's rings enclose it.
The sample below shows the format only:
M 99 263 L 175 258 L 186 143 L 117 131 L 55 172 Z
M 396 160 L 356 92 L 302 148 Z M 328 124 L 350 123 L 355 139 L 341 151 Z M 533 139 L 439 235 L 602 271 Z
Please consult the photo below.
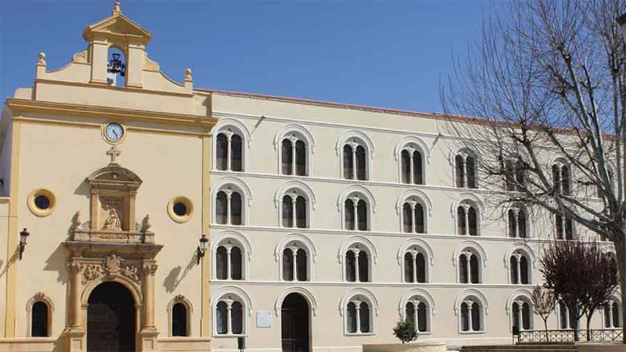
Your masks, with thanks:
M 186 125 L 193 127 L 205 127 L 207 134 L 216 124 L 216 118 L 203 115 L 188 115 L 180 113 L 162 113 L 157 111 L 144 111 L 125 108 L 113 108 L 109 106 L 81 105 L 59 102 L 42 102 L 29 99 L 6 99 L 6 105 L 14 115 L 23 111 L 44 113 L 65 113 L 67 115 L 81 115 L 99 118 L 118 118 L 121 120 L 136 120 L 143 122 L 161 122 L 171 125 Z

